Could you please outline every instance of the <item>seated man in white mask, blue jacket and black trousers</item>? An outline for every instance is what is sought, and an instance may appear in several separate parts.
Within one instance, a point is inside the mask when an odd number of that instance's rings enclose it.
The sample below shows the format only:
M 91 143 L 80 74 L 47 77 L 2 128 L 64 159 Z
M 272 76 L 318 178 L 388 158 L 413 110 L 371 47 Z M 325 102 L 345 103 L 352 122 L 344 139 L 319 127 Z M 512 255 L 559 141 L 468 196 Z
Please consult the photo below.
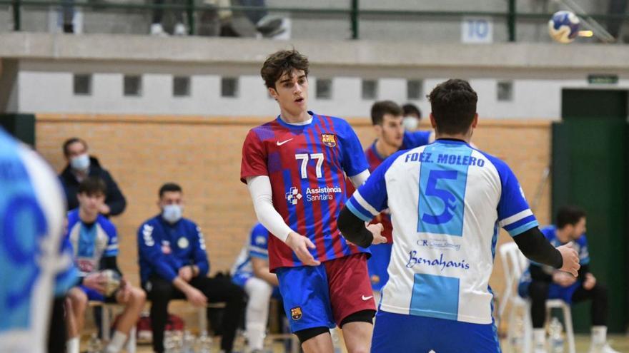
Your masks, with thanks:
M 162 213 L 144 222 L 138 230 L 140 280 L 151 305 L 153 350 L 164 352 L 164 327 L 168 303 L 187 299 L 205 307 L 207 302 L 225 302 L 221 349 L 232 352 L 238 321 L 244 309 L 244 292 L 228 277 L 207 277 L 209 261 L 201 228 L 182 217 L 183 190 L 175 183 L 159 188 L 157 205 Z

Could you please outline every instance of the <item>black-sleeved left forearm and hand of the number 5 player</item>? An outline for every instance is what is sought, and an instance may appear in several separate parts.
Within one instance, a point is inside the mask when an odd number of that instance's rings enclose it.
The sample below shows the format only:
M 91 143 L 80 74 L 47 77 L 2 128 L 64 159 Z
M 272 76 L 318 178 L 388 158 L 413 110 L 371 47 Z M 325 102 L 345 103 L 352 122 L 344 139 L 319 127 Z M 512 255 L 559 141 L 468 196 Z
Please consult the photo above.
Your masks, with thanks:
M 372 244 L 382 244 L 387 242 L 387 238 L 382 236 L 382 224 L 368 225 L 358 218 L 347 207 L 343 207 L 337 221 L 341 234 L 352 244 L 360 247 L 368 247 Z

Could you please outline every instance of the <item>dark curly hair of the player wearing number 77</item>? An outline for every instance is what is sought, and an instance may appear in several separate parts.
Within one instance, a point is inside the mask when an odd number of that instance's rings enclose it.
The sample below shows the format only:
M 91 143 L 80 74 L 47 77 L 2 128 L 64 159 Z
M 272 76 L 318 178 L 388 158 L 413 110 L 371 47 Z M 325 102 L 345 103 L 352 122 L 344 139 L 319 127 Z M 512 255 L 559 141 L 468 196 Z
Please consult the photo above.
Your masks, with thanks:
M 262 68 L 260 76 L 267 88 L 275 88 L 275 83 L 284 73 L 292 73 L 293 70 L 303 70 L 308 76 L 308 58 L 294 48 L 291 50 L 276 51 L 269 55 Z

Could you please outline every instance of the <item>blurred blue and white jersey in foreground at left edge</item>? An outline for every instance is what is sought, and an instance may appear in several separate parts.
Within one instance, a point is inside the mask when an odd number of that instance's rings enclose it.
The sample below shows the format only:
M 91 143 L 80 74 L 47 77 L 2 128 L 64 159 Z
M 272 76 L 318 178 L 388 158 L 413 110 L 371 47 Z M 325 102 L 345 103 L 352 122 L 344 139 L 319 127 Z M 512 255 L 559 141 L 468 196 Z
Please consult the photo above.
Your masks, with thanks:
M 53 170 L 0 128 L 0 350 L 45 352 L 55 287 L 76 282 Z M 56 277 L 61 272 L 67 276 Z

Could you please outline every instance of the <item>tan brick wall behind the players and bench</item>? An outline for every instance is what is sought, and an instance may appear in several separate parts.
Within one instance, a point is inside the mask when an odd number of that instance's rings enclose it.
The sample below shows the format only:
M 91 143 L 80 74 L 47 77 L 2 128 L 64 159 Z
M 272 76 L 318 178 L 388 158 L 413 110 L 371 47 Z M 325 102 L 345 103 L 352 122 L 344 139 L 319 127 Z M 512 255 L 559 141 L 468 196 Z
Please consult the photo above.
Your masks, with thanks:
M 119 265 L 132 282 L 139 282 L 137 227 L 159 212 L 157 190 L 167 181 L 184 188 L 184 216 L 204 231 L 211 272 L 229 270 L 255 222 L 249 193 L 239 181 L 242 141 L 265 119 L 39 114 L 36 121 L 37 149 L 55 170 L 65 165 L 61 144 L 78 136 L 117 180 L 128 202 L 113 218 L 120 235 Z M 350 122 L 369 145 L 374 133 L 367 118 Z M 533 203 L 550 163 L 550 122 L 481 119 L 473 141 L 511 166 Z M 549 220 L 549 190 L 547 184 L 535 210 L 542 224 Z M 502 232 L 500 242 L 507 240 Z M 502 270 L 499 261 L 495 265 L 491 284 L 500 293 Z

